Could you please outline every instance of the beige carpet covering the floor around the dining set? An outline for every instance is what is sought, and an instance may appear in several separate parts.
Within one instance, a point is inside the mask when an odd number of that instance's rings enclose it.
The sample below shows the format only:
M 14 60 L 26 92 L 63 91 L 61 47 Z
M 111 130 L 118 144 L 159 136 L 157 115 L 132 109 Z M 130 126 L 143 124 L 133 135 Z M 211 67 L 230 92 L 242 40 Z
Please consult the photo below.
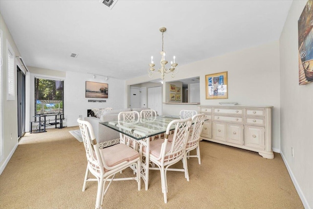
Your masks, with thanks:
M 26 134 L 0 176 L 1 209 L 93 209 L 96 182 L 82 192 L 86 171 L 84 144 L 68 131 Z M 201 165 L 188 161 L 190 182 L 182 172 L 167 173 L 164 204 L 160 174 L 150 172 L 149 189 L 134 181 L 113 182 L 106 209 L 303 209 L 280 154 L 258 153 L 201 141 Z M 178 166 L 180 166 L 179 163 Z M 127 170 L 122 176 L 132 172 Z

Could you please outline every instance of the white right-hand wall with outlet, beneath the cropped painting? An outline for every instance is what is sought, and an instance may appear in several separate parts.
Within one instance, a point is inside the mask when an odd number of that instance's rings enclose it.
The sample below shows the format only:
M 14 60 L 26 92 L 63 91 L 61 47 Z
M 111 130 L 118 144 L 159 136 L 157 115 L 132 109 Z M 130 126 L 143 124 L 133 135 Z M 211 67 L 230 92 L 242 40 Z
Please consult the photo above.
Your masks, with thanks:
M 292 2 L 280 37 L 280 114 L 281 154 L 309 209 L 313 208 L 313 82 L 298 84 L 298 19 L 306 2 Z

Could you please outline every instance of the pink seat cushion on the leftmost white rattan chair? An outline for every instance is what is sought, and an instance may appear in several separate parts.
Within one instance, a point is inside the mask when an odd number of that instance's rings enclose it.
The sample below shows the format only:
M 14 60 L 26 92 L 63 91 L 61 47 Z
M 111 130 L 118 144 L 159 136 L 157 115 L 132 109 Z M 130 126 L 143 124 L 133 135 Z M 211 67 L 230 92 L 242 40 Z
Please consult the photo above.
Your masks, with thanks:
M 105 163 L 110 167 L 124 161 L 133 161 L 139 157 L 137 151 L 122 143 L 100 149 L 99 151 L 102 152 Z

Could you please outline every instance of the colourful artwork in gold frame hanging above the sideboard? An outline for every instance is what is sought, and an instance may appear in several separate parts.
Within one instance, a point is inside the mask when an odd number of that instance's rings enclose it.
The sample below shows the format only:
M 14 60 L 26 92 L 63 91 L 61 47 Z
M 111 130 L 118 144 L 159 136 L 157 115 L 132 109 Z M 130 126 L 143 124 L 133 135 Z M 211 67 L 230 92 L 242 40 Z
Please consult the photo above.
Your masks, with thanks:
M 227 71 L 205 75 L 205 98 L 227 99 Z

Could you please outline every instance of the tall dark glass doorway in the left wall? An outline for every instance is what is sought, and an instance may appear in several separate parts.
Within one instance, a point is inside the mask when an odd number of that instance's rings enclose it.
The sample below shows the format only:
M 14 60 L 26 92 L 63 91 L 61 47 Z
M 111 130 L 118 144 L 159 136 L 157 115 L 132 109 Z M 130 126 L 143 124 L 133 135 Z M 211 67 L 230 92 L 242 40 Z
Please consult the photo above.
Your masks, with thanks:
M 18 139 L 25 133 L 25 74 L 17 66 Z

